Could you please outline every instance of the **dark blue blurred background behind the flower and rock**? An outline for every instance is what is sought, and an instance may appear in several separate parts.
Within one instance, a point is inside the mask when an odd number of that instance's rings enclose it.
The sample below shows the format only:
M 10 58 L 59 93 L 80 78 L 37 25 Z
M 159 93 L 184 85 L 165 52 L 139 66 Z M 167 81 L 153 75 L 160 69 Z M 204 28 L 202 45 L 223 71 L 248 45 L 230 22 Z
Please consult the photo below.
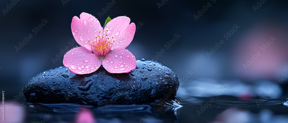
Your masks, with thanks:
M 86 12 L 101 24 L 108 16 L 130 17 L 137 32 L 127 49 L 136 59 L 154 59 L 175 71 L 180 101 L 217 96 L 217 91 L 241 100 L 285 101 L 287 3 L 1 0 L 0 91 L 5 91 L 7 100 L 19 95 L 17 103 L 23 104 L 24 84 L 38 73 L 63 66 L 65 47 L 79 46 L 73 42 L 71 20 Z

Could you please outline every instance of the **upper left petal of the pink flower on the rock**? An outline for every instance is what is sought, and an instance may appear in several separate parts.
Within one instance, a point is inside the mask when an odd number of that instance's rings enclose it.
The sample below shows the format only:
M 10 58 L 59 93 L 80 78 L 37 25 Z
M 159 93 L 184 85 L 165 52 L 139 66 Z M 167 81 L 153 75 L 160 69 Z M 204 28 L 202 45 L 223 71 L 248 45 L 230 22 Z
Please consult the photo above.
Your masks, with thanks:
M 98 36 L 99 31 L 103 35 L 103 28 L 98 19 L 85 12 L 80 14 L 80 19 L 77 16 L 73 17 L 71 30 L 76 42 L 90 51 L 92 50 L 88 40 L 96 41 L 95 37 Z

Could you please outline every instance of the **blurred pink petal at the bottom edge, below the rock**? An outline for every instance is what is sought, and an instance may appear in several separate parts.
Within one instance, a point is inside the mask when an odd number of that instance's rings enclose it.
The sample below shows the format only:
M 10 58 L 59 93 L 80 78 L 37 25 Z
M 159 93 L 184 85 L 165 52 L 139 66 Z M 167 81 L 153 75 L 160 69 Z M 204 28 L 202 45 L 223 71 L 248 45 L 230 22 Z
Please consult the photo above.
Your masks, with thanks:
M 75 123 L 96 123 L 93 112 L 90 109 L 83 108 L 76 115 Z

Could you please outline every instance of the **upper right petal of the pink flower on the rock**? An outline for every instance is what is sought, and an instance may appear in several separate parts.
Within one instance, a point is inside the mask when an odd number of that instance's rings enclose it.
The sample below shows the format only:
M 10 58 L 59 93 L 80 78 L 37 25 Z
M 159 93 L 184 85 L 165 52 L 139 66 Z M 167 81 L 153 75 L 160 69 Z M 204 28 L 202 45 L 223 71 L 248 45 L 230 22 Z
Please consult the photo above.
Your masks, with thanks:
M 116 17 L 107 23 L 104 30 L 108 30 L 109 37 L 114 36 L 115 42 L 111 49 L 126 48 L 134 38 L 136 26 L 134 23 L 130 23 L 129 17 Z

